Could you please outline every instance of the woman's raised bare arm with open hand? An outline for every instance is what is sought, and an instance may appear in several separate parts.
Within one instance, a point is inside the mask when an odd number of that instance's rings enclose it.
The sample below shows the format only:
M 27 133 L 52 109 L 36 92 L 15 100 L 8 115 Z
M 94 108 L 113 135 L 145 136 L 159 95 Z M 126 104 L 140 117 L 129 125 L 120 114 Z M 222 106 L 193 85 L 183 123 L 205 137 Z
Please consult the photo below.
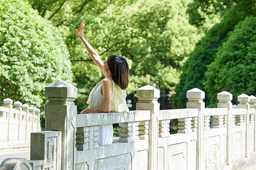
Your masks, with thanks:
M 103 63 L 102 59 L 100 58 L 100 56 L 98 55 L 98 53 L 96 52 L 96 50 L 94 50 L 94 48 L 85 39 L 85 37 L 84 37 L 84 25 L 85 25 L 85 23 L 84 23 L 84 21 L 82 21 L 82 23 L 80 24 L 79 29 L 78 30 L 76 29 L 76 36 L 79 37 L 79 39 L 82 41 L 86 50 L 89 52 L 90 57 L 92 57 L 93 61 L 97 64 L 97 66 L 101 70 L 104 63 Z M 105 75 L 105 73 L 103 71 L 102 71 L 102 73 Z

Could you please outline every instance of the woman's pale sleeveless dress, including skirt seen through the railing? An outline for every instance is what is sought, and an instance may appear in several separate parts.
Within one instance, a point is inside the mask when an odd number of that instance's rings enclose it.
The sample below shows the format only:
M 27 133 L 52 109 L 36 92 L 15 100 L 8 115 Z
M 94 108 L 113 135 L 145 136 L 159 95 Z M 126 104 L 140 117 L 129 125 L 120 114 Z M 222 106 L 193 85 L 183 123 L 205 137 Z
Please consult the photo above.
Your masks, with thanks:
M 112 78 L 110 78 L 112 80 Z M 112 80 L 113 91 L 111 97 L 111 109 L 110 112 L 129 112 L 126 104 L 126 91 L 121 90 L 117 84 Z M 89 104 L 89 108 L 98 108 L 103 106 L 103 96 L 101 94 L 102 80 L 97 83 L 93 90 L 90 92 L 89 99 L 86 102 Z M 113 125 L 100 125 L 98 129 L 98 145 L 108 145 L 113 142 Z

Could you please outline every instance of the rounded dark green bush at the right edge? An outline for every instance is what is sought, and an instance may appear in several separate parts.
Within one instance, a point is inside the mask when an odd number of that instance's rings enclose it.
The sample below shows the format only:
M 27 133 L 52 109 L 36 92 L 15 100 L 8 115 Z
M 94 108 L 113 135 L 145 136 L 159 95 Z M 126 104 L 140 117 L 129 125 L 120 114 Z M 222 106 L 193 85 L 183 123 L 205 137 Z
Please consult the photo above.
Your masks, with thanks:
M 209 93 L 210 104 L 216 106 L 217 93 L 228 91 L 233 94 L 233 103 L 243 93 L 256 95 L 256 17 L 250 16 L 229 32 L 216 59 L 210 63 L 205 73 L 205 89 Z

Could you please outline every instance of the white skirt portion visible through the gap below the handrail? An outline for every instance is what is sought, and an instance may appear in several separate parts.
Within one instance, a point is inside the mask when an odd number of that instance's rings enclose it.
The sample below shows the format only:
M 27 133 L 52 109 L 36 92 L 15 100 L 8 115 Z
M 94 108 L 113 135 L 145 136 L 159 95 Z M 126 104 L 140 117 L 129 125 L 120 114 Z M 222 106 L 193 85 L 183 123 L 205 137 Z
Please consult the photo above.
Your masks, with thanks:
M 113 125 L 100 125 L 98 128 L 98 145 L 109 145 L 113 142 Z

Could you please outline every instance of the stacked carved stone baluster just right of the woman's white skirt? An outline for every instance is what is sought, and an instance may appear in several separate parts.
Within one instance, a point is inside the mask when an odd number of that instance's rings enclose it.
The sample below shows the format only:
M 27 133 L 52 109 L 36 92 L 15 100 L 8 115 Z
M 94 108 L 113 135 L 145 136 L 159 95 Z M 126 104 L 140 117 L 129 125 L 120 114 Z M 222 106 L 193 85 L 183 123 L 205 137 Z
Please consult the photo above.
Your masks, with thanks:
M 130 143 L 133 141 L 132 135 L 133 135 L 133 123 L 127 122 L 127 123 L 119 123 L 120 126 L 120 133 L 119 133 L 119 142 L 122 143 Z

